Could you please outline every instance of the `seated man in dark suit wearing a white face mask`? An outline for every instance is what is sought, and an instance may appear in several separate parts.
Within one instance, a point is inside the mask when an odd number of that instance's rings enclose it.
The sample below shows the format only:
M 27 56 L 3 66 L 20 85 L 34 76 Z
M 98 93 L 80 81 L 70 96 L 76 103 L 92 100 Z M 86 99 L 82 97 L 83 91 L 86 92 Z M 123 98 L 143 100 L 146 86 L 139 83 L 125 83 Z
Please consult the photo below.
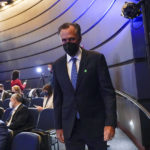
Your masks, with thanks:
M 33 118 L 28 108 L 22 104 L 22 96 L 15 93 L 10 98 L 10 108 L 13 108 L 6 124 L 13 130 L 14 135 L 33 128 Z

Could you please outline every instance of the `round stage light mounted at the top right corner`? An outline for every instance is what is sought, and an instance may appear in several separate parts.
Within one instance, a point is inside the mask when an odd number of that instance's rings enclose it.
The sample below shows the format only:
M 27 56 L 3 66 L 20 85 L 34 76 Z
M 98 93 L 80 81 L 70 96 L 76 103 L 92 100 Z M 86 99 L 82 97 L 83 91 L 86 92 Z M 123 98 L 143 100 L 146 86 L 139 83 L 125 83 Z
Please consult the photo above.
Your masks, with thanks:
M 141 12 L 141 4 L 143 3 L 143 0 L 140 2 L 132 3 L 132 2 L 125 2 L 125 4 L 122 7 L 122 13 L 121 15 L 128 19 L 133 19 L 137 16 L 139 16 Z

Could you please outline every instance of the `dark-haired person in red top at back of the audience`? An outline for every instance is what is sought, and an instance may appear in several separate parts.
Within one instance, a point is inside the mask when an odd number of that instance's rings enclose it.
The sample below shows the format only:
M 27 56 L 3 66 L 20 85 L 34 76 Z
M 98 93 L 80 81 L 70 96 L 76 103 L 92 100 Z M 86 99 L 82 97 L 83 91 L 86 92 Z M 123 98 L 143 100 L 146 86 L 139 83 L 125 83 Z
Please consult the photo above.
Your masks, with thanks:
M 11 87 L 14 85 L 20 86 L 21 90 L 23 91 L 26 87 L 27 80 L 22 84 L 21 80 L 19 79 L 20 72 L 18 70 L 14 70 L 12 73 L 12 80 L 11 80 Z

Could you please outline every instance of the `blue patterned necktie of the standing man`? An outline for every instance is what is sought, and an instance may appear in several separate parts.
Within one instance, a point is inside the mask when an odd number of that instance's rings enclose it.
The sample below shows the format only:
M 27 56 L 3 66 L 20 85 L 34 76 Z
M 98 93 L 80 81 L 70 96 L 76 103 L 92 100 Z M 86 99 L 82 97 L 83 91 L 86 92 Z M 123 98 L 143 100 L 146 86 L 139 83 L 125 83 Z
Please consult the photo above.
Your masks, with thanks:
M 77 60 L 77 58 L 74 58 L 74 57 L 71 58 L 71 61 L 72 61 L 71 82 L 72 82 L 72 85 L 73 85 L 74 89 L 76 89 L 76 83 L 77 83 L 76 60 Z

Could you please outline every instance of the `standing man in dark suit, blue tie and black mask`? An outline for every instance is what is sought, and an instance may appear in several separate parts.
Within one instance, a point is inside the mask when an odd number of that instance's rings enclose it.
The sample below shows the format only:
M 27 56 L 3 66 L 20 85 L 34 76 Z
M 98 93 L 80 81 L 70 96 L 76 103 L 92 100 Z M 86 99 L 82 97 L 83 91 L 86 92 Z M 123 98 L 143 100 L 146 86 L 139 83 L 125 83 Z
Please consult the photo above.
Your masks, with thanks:
M 67 150 L 106 150 L 116 127 L 116 98 L 105 58 L 81 48 L 78 24 L 59 28 L 66 55 L 54 63 L 56 134 Z

